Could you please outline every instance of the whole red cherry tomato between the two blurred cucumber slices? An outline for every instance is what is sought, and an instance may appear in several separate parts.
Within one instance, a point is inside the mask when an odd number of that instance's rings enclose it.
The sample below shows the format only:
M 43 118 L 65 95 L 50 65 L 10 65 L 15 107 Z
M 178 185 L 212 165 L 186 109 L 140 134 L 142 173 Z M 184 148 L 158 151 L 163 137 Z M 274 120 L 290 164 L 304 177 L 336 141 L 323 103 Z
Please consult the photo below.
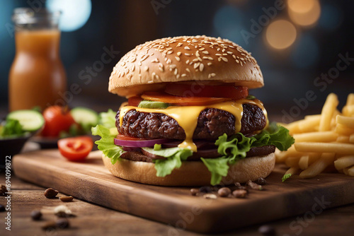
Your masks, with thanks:
M 74 118 L 67 107 L 51 106 L 43 112 L 45 127 L 42 136 L 57 137 L 60 131 L 69 131 L 75 124 Z

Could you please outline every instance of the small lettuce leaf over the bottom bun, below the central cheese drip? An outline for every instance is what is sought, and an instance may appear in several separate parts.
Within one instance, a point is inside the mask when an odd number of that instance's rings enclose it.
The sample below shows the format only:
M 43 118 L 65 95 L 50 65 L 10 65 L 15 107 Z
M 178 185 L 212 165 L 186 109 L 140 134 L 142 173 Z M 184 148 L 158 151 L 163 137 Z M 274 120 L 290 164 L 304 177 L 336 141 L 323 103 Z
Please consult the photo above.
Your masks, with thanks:
M 154 155 L 161 155 L 166 158 L 154 160 L 156 176 L 158 177 L 170 175 L 174 169 L 181 167 L 182 160 L 187 160 L 188 157 L 193 155 L 193 151 L 187 148 L 161 148 L 159 150 L 154 150 L 154 148 L 142 149 Z

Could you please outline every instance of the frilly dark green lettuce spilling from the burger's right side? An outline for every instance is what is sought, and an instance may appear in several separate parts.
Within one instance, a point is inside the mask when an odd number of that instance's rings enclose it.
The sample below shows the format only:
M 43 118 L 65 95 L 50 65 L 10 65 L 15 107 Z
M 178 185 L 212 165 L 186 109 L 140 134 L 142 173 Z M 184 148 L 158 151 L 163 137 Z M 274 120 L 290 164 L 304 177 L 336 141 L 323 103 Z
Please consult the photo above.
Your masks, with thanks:
M 295 139 L 289 134 L 289 130 L 283 126 L 270 124 L 268 131 L 262 131 L 251 138 L 241 133 L 227 137 L 226 134 L 219 136 L 215 145 L 221 158 L 205 159 L 201 158 L 207 169 L 212 173 L 210 184 L 219 184 L 222 177 L 227 176 L 229 165 L 233 165 L 237 160 L 246 158 L 246 153 L 254 147 L 274 145 L 280 151 L 286 151 Z

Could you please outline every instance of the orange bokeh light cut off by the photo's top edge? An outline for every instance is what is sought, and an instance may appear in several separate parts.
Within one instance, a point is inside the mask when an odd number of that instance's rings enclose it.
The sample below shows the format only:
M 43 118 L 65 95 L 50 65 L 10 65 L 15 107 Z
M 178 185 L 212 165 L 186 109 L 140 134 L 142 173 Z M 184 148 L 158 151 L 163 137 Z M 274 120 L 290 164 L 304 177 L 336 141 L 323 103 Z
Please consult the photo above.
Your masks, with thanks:
M 301 26 L 313 26 L 321 16 L 319 0 L 288 0 L 288 13 L 292 22 Z

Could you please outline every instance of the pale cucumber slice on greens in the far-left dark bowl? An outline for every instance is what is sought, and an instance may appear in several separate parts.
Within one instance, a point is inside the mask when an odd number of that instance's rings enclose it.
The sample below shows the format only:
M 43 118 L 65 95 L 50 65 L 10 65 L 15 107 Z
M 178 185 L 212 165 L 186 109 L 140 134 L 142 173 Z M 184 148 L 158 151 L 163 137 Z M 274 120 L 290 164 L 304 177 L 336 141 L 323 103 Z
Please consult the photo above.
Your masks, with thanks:
M 45 119 L 40 112 L 35 110 L 17 110 L 10 112 L 7 119 L 17 119 L 23 131 L 36 131 L 45 124 Z

